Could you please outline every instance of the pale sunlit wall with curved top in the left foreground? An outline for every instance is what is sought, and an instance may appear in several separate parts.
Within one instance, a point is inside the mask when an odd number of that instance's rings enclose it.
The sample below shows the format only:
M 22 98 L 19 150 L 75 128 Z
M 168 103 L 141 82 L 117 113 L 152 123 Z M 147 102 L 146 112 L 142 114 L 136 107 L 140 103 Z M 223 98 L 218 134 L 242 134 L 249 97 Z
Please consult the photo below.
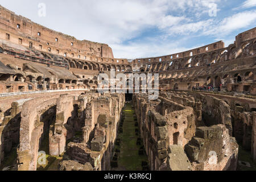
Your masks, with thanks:
M 51 107 L 56 106 L 57 99 L 45 101 L 45 98 L 36 98 L 27 101 L 21 113 L 20 143 L 18 148 L 18 170 L 35 171 L 38 159 L 40 139 L 43 135 L 44 125 L 41 116 L 45 112 L 50 114 Z M 54 112 L 54 111 L 53 111 Z

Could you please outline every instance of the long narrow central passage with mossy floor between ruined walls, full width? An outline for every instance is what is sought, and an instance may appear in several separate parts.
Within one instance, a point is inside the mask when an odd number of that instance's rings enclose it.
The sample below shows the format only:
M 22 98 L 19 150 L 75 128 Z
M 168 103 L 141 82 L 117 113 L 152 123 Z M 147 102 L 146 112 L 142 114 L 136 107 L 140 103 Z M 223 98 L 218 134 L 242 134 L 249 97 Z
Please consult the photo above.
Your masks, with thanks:
M 146 171 L 147 156 L 143 142 L 139 137 L 137 118 L 131 103 L 123 110 L 124 119 L 119 126 L 117 142 L 115 142 L 112 160 L 113 171 Z

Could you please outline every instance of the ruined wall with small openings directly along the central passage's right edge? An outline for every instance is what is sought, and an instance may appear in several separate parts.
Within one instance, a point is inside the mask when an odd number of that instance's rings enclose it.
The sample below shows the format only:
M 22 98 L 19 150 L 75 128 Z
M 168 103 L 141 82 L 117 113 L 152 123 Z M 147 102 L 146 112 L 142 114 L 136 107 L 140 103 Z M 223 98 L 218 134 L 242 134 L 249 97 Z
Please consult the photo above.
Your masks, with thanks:
M 169 147 L 174 144 L 184 147 L 193 137 L 193 109 L 163 97 L 152 104 L 147 97 L 138 95 L 133 97 L 133 102 L 150 169 L 160 170 L 167 163 Z

